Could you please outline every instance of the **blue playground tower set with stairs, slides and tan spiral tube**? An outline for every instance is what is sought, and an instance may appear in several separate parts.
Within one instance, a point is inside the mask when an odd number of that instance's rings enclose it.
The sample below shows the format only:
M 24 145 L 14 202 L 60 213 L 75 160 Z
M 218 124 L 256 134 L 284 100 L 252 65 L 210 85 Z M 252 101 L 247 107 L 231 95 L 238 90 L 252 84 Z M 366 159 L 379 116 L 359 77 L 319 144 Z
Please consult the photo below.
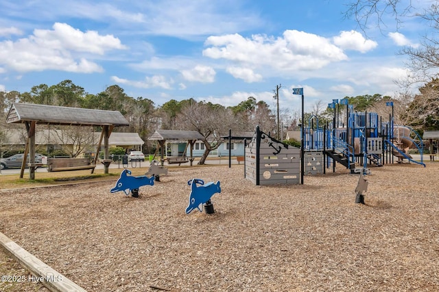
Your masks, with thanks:
M 346 105 L 346 121 L 342 124 L 336 118 L 335 101 L 329 104 L 334 109 L 331 124 L 320 127 L 316 116 L 309 117 L 307 127 L 302 128 L 305 153 L 321 153 L 322 164 L 327 168 L 332 164 L 333 171 L 337 162 L 351 170 L 351 173 L 367 173 L 368 165 L 394 163 L 395 157 L 397 163 L 407 159 L 425 167 L 424 144 L 416 131 L 395 125 L 393 116 L 389 117 L 388 122 L 383 122 L 376 113 L 355 112 L 352 105 L 346 102 L 342 104 Z M 413 159 L 410 148 L 418 150 L 420 161 Z M 324 168 L 322 170 L 324 172 Z

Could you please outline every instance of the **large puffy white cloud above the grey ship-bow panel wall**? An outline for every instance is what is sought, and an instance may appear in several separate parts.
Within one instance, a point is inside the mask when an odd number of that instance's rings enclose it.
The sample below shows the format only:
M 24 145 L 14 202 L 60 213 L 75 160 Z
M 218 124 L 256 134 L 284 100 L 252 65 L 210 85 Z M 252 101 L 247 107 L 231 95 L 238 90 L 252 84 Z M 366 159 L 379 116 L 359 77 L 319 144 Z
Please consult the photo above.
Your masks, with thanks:
M 255 70 L 316 70 L 331 62 L 347 59 L 342 49 L 327 38 L 304 31 L 287 30 L 281 38 L 239 34 L 210 36 L 205 42 L 203 55 L 226 59 L 241 67 Z

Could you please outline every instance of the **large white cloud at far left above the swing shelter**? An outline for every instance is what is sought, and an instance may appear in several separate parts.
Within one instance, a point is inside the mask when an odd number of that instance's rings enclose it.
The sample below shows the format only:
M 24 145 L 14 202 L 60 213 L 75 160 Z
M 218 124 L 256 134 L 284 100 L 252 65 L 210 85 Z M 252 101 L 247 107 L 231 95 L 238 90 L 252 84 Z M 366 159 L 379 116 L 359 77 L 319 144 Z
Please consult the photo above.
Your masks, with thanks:
M 103 55 L 114 49 L 126 47 L 113 36 L 100 36 L 96 31 L 84 33 L 65 23 L 55 23 L 51 30 L 35 29 L 27 38 L 0 42 L 0 65 L 19 72 L 102 72 L 101 66 L 82 54 Z

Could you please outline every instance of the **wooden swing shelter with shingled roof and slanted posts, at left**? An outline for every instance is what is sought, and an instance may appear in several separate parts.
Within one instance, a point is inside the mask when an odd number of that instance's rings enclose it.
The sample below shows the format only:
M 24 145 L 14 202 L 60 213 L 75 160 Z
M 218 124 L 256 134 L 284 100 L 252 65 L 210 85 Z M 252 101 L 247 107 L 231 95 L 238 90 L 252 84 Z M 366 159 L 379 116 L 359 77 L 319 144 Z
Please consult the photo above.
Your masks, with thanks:
M 27 155 L 29 154 L 29 179 L 35 179 L 35 128 L 36 124 L 54 124 L 64 126 L 99 126 L 102 127 L 101 137 L 95 155 L 96 164 L 99 157 L 99 148 L 104 140 L 104 172 L 108 174 L 110 159 L 108 159 L 108 137 L 115 127 L 128 126 L 128 121 L 119 111 L 104 111 L 102 109 L 82 109 L 78 107 L 58 107 L 55 105 L 36 105 L 32 103 L 12 104 L 6 122 L 25 124 L 27 142 L 23 164 L 21 165 L 20 178 L 23 178 Z M 94 168 L 93 168 L 94 170 Z M 92 173 L 93 173 L 92 170 Z

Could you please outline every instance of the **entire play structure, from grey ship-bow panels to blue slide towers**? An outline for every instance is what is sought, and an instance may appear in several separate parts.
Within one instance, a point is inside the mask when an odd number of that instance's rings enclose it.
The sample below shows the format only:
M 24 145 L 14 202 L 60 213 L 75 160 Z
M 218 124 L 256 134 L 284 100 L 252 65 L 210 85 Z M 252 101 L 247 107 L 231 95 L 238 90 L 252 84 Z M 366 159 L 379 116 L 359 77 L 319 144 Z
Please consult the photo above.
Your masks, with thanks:
M 340 124 L 336 117 L 335 101 L 329 104 L 334 109 L 331 124 L 320 127 L 317 116 L 309 117 L 300 133 L 302 152 L 257 127 L 246 144 L 244 176 L 255 185 L 297 184 L 303 183 L 304 174 L 324 174 L 331 165 L 335 172 L 335 163 L 353 174 L 368 174 L 368 165 L 383 166 L 395 158 L 397 163 L 406 159 L 425 167 L 423 140 L 414 129 L 395 125 L 393 116 L 383 122 L 377 113 L 356 112 L 347 99 L 341 104 L 346 105 L 346 123 Z M 418 150 L 420 161 L 413 159 L 410 148 Z

